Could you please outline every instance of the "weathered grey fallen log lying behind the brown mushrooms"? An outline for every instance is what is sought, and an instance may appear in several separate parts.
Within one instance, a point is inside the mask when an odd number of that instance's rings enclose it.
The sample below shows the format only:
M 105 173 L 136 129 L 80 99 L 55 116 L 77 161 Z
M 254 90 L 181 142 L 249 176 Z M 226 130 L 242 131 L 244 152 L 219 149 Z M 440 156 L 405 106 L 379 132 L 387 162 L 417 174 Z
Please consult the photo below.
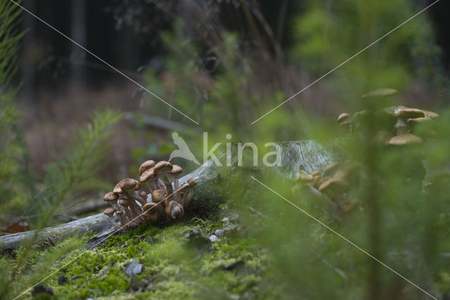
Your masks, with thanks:
M 343 156 L 342 141 L 340 140 L 327 142 L 311 140 L 289 141 L 278 143 L 278 145 L 281 146 L 281 164 L 276 167 L 252 166 L 246 163 L 246 159 L 243 159 L 243 166 L 238 166 L 238 159 L 235 155 L 231 167 L 217 166 L 210 159 L 195 171 L 182 177 L 180 182 L 185 182 L 188 178 L 193 177 L 198 183 L 195 186 L 194 198 L 188 207 L 188 211 L 217 207 L 219 203 L 226 200 L 230 193 L 230 186 L 226 178 L 228 176 L 243 176 L 243 170 L 247 171 L 247 173 L 250 171 L 250 174 L 274 173 L 292 180 L 300 170 L 308 174 L 315 170 L 323 170 L 327 164 L 342 159 Z M 234 150 L 233 153 L 235 153 Z M 243 156 L 248 157 L 249 154 L 249 152 L 244 152 Z M 223 149 L 218 150 L 217 157 L 219 160 L 222 160 L 225 155 L 226 153 Z M 252 159 L 250 160 L 252 161 Z M 115 228 L 111 225 L 108 216 L 96 214 L 58 226 L 43 228 L 39 230 L 35 243 L 55 237 L 59 240 L 64 237 L 85 233 L 88 230 L 96 233 L 98 237 L 102 237 L 113 233 Z M 14 249 L 22 244 L 24 240 L 33 236 L 34 230 L 1 236 L 0 250 Z

